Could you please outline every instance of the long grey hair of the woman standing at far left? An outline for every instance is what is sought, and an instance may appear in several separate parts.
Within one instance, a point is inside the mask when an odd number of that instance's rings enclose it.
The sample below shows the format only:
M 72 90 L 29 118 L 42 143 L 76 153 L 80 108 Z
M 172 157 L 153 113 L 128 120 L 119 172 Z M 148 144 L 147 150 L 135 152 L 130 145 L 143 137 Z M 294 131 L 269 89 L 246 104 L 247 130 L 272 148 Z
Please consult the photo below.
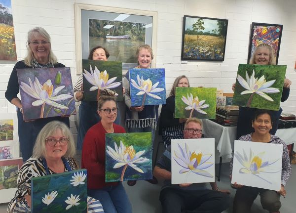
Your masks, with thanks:
M 42 27 L 35 27 L 32 30 L 29 30 L 28 32 L 28 39 L 26 42 L 26 46 L 27 46 L 27 56 L 24 58 L 24 62 L 27 66 L 32 67 L 32 59 L 33 59 L 33 52 L 29 46 L 29 44 L 31 43 L 32 37 L 35 36 L 36 34 L 40 34 L 42 37 L 44 37 L 47 42 L 51 42 L 50 36 L 49 34 L 46 32 L 46 30 L 44 30 Z M 52 64 L 56 64 L 58 63 L 58 59 L 55 56 L 55 54 L 53 54 L 53 52 L 51 51 L 51 45 L 50 45 L 50 52 L 48 55 L 48 62 L 51 62 Z

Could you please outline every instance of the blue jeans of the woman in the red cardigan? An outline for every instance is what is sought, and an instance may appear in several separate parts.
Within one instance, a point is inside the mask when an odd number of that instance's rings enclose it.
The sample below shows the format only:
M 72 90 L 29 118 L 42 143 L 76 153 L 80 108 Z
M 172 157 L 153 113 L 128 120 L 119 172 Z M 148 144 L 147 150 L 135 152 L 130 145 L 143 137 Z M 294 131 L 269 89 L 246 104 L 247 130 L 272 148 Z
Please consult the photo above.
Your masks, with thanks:
M 105 213 L 132 213 L 132 206 L 121 182 L 103 189 L 88 189 L 88 196 L 99 200 Z

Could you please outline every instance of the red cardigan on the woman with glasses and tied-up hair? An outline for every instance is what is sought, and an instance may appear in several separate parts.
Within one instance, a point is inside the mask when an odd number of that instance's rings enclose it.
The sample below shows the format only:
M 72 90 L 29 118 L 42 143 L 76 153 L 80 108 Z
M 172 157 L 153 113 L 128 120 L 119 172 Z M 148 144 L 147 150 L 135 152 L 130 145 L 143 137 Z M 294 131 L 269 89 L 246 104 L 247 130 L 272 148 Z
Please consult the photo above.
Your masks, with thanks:
M 123 127 L 113 124 L 114 133 L 124 133 Z M 101 189 L 117 185 L 118 182 L 105 183 L 105 134 L 101 122 L 92 126 L 86 132 L 83 140 L 81 167 L 87 169 L 87 188 Z

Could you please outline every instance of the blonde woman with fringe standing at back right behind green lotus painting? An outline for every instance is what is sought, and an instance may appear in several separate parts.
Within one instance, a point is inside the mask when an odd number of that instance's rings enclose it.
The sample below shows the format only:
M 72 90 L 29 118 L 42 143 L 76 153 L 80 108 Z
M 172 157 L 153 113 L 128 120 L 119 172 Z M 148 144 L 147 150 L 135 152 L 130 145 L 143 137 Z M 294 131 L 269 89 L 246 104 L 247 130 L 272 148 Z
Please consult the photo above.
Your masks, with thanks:
M 260 64 L 260 65 L 275 65 L 275 58 L 273 54 L 273 50 L 270 45 L 266 43 L 259 44 L 252 58 L 250 59 L 250 64 Z M 290 94 L 290 85 L 292 82 L 289 79 L 285 79 L 284 87 L 282 92 L 281 101 L 284 102 L 288 99 Z M 232 90 L 234 91 L 235 84 L 232 85 Z M 283 109 L 280 108 L 279 111 L 273 111 L 272 115 L 274 117 L 274 122 L 272 125 L 272 129 L 270 131 L 271 134 L 275 134 L 277 130 L 277 126 L 279 123 L 279 118 L 281 116 Z M 236 128 L 236 139 L 240 136 L 245 135 L 253 131 L 251 127 L 251 119 L 253 118 L 255 109 L 248 107 L 239 107 L 239 115 L 237 120 L 237 128 Z

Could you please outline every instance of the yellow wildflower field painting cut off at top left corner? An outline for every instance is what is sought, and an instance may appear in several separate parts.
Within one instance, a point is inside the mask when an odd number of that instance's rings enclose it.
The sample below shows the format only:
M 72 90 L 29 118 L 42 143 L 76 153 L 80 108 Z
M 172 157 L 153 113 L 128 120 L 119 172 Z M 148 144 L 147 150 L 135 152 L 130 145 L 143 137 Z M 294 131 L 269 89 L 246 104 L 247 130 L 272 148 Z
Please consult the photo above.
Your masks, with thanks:
M 0 0 L 0 60 L 17 60 L 11 0 Z

